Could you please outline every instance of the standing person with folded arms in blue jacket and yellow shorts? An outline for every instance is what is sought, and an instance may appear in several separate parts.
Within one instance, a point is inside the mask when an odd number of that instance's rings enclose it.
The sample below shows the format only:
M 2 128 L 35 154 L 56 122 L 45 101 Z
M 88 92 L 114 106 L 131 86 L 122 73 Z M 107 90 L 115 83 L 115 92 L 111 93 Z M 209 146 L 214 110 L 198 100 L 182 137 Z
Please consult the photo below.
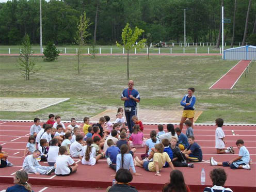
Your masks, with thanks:
M 184 107 L 181 121 L 180 121 L 180 129 L 182 131 L 183 123 L 188 118 L 191 123 L 192 127 L 194 127 L 194 116 L 195 116 L 195 103 L 196 103 L 196 97 L 193 95 L 195 92 L 195 88 L 190 87 L 187 89 L 187 94 L 182 98 L 181 105 Z

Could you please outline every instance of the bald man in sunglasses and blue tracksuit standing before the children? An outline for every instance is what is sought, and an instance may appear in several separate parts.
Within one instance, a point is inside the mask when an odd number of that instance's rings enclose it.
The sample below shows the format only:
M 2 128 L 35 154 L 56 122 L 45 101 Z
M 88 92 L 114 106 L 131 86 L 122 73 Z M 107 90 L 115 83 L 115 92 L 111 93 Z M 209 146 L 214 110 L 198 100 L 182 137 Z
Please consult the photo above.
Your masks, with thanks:
M 134 123 L 132 117 L 137 115 L 137 103 L 140 102 L 139 92 L 133 88 L 134 82 L 132 80 L 128 83 L 128 88 L 124 89 L 121 94 L 121 100 L 124 101 L 124 113 L 129 128 L 130 135 L 133 132 Z

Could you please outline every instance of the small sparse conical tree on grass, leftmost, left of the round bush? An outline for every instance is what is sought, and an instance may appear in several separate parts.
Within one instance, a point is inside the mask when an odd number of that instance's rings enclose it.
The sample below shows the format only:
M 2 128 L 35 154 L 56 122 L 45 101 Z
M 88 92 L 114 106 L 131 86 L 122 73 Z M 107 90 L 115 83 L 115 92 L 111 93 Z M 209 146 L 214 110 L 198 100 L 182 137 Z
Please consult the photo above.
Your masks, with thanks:
M 26 81 L 29 80 L 30 74 L 36 73 L 38 70 L 35 69 L 35 61 L 31 58 L 33 55 L 32 46 L 28 35 L 26 34 L 23 38 L 21 54 L 18 59 L 17 67 L 24 71 L 23 76 L 26 77 Z

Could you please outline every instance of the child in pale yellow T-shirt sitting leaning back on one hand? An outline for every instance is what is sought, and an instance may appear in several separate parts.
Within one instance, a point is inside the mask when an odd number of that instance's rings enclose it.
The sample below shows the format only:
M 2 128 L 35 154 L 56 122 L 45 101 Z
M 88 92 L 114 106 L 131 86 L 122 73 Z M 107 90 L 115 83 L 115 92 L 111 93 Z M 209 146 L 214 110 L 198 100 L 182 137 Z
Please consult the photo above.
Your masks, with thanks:
M 162 143 L 155 145 L 153 162 L 140 161 L 137 156 L 134 158 L 135 166 L 143 167 L 146 171 L 156 172 L 155 175 L 157 176 L 161 176 L 159 171 L 163 168 L 166 162 L 169 164 L 170 168 L 174 170 L 169 155 L 164 152 L 164 146 Z

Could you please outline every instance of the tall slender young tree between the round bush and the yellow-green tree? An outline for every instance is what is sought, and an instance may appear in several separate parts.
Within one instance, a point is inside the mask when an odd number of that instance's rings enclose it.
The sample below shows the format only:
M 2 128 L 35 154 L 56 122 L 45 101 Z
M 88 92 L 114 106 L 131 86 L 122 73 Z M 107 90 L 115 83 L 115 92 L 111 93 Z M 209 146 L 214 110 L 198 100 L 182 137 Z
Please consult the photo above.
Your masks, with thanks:
M 80 18 L 79 22 L 77 22 L 77 31 L 76 31 L 76 37 L 75 42 L 78 45 L 77 49 L 77 58 L 78 58 L 78 74 L 80 74 L 80 56 L 82 53 L 82 46 L 85 45 L 85 43 L 88 41 L 88 37 L 91 35 L 88 31 L 89 26 L 92 23 L 90 23 L 90 19 L 86 17 L 86 12 L 84 12 Z

